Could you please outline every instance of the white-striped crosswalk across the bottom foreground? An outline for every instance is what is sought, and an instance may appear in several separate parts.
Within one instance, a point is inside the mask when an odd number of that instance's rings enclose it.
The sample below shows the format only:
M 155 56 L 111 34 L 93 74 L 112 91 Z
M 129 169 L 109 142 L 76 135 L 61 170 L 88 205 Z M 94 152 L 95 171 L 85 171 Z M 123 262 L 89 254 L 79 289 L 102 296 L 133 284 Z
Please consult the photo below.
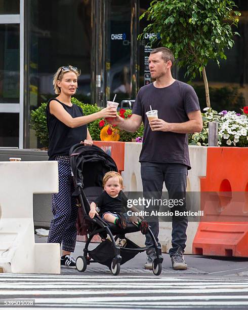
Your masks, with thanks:
M 81 274 L 0 276 L 0 298 L 35 299 L 35 307 L 49 307 L 50 310 L 80 306 L 84 309 L 248 307 L 247 293 L 248 280 L 243 279 Z

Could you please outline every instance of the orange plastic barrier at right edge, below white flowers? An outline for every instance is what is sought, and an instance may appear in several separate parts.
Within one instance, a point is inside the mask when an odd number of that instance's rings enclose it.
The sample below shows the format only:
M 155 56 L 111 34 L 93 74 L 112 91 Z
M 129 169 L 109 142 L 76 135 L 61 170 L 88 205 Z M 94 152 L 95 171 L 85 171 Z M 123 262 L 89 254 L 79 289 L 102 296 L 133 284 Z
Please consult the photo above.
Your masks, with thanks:
M 199 223 L 193 254 L 248 257 L 247 162 L 247 147 L 208 147 L 201 192 L 215 194 L 201 205 L 205 219 Z

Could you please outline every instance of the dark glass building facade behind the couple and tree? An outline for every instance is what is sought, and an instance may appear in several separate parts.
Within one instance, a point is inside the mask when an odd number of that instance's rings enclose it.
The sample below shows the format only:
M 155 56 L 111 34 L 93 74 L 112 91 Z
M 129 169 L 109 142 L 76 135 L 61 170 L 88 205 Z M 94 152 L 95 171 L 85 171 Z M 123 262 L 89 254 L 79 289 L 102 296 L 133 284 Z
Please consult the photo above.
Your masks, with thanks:
M 219 68 L 206 68 L 213 107 L 248 105 L 248 4 L 241 11 L 235 45 Z M 151 82 L 147 25 L 139 16 L 150 0 L 0 0 L 0 147 L 36 148 L 30 112 L 54 94 L 53 74 L 61 65 L 81 70 L 77 99 L 105 106 L 134 99 Z M 150 34 L 153 35 L 153 34 Z M 184 70 L 173 69 L 185 81 Z M 193 83 L 202 106 L 203 82 Z M 226 107 L 226 108 L 225 108 Z

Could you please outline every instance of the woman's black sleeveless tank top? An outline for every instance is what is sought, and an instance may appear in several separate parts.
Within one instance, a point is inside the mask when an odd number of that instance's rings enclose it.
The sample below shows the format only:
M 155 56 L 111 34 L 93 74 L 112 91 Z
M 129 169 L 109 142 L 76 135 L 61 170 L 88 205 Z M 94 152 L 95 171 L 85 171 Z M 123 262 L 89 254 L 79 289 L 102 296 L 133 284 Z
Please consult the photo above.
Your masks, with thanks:
M 48 101 L 46 112 L 49 133 L 48 156 L 50 161 L 54 160 L 57 155 L 68 156 L 72 145 L 80 143 L 80 141 L 84 141 L 87 138 L 87 125 L 70 128 L 50 113 L 49 104 L 52 100 L 58 101 L 72 118 L 84 115 L 82 109 L 76 104 L 68 106 L 56 98 L 51 98 Z

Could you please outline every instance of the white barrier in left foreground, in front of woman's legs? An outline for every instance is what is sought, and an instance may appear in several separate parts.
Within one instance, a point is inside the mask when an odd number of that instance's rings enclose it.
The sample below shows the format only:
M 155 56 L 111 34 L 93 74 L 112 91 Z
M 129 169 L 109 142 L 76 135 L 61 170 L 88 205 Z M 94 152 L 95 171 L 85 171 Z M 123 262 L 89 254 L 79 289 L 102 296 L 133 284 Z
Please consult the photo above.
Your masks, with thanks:
M 60 245 L 35 244 L 33 193 L 58 192 L 57 162 L 0 162 L 0 270 L 60 274 Z

